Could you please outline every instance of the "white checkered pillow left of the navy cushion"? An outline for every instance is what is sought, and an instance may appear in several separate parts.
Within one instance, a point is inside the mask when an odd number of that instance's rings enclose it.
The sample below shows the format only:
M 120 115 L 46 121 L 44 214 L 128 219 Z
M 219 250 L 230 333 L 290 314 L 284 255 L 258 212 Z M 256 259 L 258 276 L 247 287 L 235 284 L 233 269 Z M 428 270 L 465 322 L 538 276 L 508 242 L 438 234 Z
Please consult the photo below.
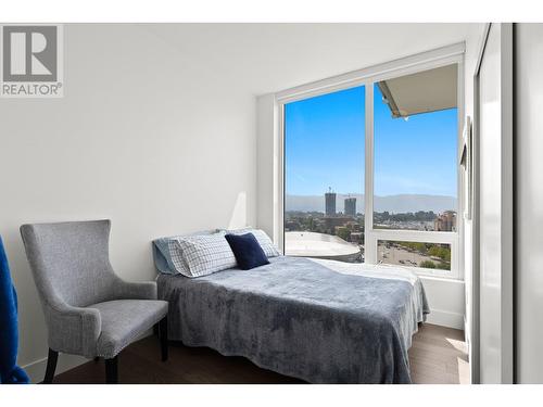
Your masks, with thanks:
M 168 246 L 176 270 L 186 277 L 202 277 L 236 267 L 236 257 L 224 232 L 180 237 Z

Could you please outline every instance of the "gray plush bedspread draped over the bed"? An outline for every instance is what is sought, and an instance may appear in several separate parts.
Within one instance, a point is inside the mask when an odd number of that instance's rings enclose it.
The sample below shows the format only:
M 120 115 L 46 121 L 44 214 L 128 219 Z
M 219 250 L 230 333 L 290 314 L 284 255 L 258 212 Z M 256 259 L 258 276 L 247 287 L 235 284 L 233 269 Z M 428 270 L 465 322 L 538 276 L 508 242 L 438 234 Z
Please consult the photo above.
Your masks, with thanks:
M 195 279 L 161 275 L 169 339 L 311 383 L 411 383 L 407 349 L 429 311 L 418 278 L 331 260 L 270 262 Z

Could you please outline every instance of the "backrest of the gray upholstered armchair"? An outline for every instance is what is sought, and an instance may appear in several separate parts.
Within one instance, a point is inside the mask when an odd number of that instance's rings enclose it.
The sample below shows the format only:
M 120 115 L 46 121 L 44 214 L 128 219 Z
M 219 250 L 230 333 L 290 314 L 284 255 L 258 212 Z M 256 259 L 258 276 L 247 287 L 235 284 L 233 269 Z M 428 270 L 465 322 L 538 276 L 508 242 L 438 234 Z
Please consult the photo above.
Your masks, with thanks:
M 41 301 L 85 307 L 112 297 L 110 220 L 23 225 L 21 236 Z

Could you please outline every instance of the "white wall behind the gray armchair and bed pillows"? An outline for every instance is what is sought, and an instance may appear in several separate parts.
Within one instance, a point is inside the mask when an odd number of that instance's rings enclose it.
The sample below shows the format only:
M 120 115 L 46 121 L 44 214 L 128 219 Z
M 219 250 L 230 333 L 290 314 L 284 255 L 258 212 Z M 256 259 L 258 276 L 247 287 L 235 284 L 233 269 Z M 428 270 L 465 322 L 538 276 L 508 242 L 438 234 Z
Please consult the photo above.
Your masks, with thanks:
M 256 221 L 250 92 L 146 26 L 64 36 L 65 97 L 0 100 L 0 233 L 20 295 L 18 363 L 34 380 L 47 336 L 20 225 L 111 218 L 114 268 L 150 280 L 153 238 Z

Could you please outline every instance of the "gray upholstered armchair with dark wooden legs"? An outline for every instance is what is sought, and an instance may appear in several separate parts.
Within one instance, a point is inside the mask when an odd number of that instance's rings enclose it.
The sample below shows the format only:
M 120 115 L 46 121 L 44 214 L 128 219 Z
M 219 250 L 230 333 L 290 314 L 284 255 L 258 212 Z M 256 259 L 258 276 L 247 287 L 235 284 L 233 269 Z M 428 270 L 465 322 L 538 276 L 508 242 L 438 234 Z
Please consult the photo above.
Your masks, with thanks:
M 49 339 L 45 383 L 59 352 L 104 358 L 106 382 L 117 382 L 117 355 L 159 326 L 167 359 L 167 307 L 154 282 L 126 282 L 109 258 L 110 220 L 23 225 L 21 236 L 38 289 Z

